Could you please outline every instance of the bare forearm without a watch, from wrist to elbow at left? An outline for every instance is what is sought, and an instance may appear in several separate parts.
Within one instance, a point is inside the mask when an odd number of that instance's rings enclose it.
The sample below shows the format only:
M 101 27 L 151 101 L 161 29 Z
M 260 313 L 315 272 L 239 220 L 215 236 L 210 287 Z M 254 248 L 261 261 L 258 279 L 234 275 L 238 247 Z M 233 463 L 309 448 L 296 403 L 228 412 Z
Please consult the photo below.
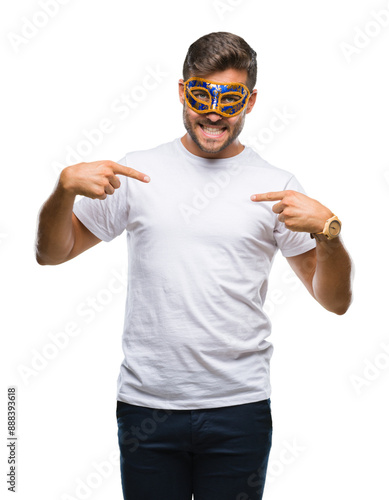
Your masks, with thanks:
M 74 241 L 72 213 L 75 195 L 58 182 L 41 208 L 36 237 L 36 260 L 41 265 L 56 265 L 67 260 Z

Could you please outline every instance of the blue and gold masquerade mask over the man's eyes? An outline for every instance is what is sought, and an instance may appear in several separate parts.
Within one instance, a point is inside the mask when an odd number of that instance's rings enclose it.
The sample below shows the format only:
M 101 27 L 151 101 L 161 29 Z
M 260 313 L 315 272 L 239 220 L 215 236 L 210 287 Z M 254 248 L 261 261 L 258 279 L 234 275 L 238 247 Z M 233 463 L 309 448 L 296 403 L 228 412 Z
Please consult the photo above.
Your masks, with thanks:
M 193 77 L 184 85 L 185 100 L 196 113 L 218 113 L 230 118 L 244 110 L 250 97 L 243 83 L 210 82 Z

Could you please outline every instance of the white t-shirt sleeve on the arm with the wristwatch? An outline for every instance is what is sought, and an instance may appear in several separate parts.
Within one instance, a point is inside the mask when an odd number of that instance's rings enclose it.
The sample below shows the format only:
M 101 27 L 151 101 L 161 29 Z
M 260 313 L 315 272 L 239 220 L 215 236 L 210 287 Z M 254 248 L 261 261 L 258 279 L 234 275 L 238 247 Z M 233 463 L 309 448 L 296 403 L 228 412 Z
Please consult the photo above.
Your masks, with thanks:
M 294 176 L 285 186 L 284 190 L 287 189 L 305 194 L 303 187 Z M 294 257 L 316 247 L 316 240 L 312 239 L 309 233 L 291 231 L 283 222 L 278 220 L 278 217 L 274 229 L 274 238 L 284 257 Z

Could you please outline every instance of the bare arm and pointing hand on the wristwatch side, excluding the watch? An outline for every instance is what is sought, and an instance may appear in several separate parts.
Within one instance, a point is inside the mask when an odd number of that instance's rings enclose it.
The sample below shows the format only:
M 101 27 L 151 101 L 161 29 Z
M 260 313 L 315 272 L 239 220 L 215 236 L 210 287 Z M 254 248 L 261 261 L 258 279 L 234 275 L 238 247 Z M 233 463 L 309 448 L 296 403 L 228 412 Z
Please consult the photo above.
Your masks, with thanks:
M 255 195 L 255 201 L 276 201 L 273 212 L 290 231 L 319 233 L 333 213 L 318 201 L 297 191 Z M 354 274 L 351 258 L 340 237 L 316 242 L 316 249 L 287 257 L 311 295 L 328 311 L 344 314 L 352 302 Z

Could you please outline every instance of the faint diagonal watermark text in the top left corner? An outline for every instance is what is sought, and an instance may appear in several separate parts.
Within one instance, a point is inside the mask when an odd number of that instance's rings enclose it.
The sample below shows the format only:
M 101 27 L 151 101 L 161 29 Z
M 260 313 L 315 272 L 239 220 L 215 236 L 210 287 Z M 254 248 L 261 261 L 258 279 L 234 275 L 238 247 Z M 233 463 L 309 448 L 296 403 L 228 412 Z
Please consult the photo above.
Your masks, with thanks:
M 28 45 L 70 0 L 39 0 L 37 9 L 30 17 L 21 18 L 21 26 L 18 32 L 10 31 L 7 38 L 14 52 L 18 54 L 23 47 Z

